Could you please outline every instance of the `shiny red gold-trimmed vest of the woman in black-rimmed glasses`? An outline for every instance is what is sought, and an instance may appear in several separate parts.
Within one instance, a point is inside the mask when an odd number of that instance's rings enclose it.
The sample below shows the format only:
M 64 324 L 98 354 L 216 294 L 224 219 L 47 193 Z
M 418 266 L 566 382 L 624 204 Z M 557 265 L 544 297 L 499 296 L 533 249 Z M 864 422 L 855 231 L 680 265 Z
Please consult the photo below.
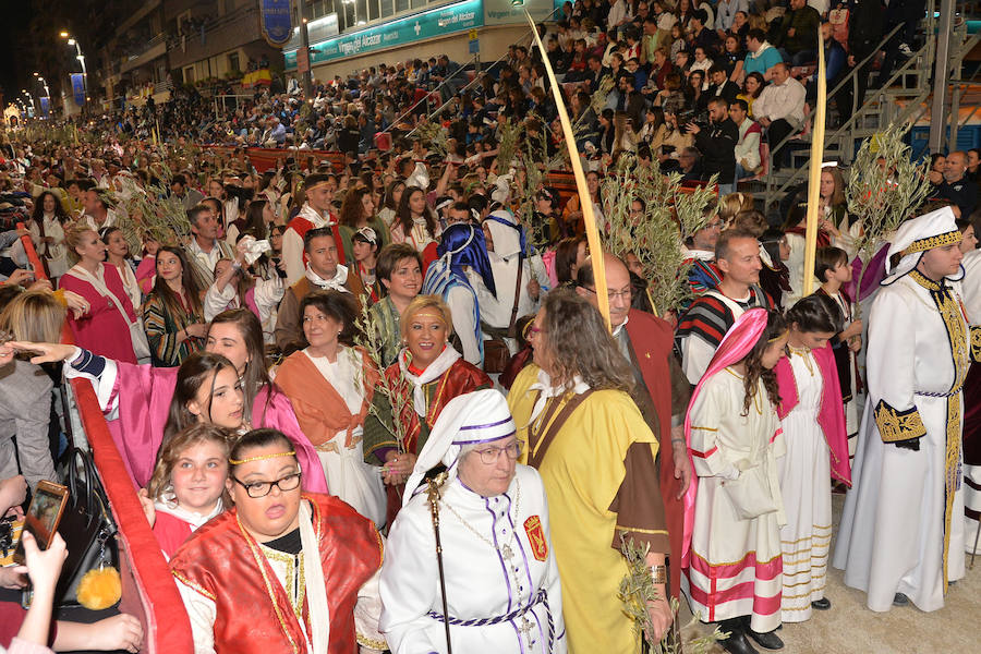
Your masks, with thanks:
M 340 499 L 314 493 L 302 497 L 312 507 L 327 581 L 327 651 L 355 653 L 354 605 L 358 591 L 382 567 L 382 537 L 370 520 Z M 307 601 L 301 628 L 286 591 L 234 508 L 194 532 L 171 559 L 170 569 L 180 584 L 215 604 L 216 653 L 306 654 Z

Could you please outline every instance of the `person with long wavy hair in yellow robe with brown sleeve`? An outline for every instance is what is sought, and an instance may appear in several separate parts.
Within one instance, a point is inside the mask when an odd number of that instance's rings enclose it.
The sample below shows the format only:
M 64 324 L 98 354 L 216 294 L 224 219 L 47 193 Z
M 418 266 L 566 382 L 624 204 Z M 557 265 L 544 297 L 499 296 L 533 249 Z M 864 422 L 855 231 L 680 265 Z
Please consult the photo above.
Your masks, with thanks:
M 645 564 L 658 594 L 647 605 L 651 635 L 661 640 L 673 621 L 657 437 L 634 402 L 642 397 L 633 372 L 585 299 L 552 291 L 530 334 L 535 365 L 514 379 L 508 404 L 528 444 L 521 461 L 542 474 L 548 494 L 569 647 L 633 652 L 633 620 L 617 596 L 623 538 L 650 546 Z

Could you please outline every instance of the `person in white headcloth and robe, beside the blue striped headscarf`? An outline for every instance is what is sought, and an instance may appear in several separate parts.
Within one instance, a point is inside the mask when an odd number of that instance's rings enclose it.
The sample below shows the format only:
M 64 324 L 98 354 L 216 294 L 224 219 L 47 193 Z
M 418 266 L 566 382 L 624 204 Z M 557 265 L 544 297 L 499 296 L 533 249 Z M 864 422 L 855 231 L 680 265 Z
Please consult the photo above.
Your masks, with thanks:
M 481 327 L 486 337 L 507 337 L 513 319 L 534 315 L 548 290 L 548 272 L 542 256 L 535 254 L 525 242 L 524 229 L 507 209 L 492 211 L 482 223 L 484 241 L 491 257 L 496 293 L 483 283 L 476 284 L 477 303 L 481 306 Z M 521 270 L 521 279 L 518 271 Z M 518 301 L 514 291 L 518 290 Z M 517 341 L 505 338 L 511 354 Z

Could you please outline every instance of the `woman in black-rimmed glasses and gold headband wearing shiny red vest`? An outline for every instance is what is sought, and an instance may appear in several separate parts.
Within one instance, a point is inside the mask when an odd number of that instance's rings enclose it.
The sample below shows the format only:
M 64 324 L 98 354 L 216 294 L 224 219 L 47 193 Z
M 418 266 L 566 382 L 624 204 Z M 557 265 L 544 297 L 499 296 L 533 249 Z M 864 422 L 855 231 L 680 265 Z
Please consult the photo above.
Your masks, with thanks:
M 377 633 L 382 537 L 340 499 L 300 488 L 304 471 L 276 429 L 242 436 L 229 456 L 234 506 L 170 561 L 195 652 L 385 650 Z

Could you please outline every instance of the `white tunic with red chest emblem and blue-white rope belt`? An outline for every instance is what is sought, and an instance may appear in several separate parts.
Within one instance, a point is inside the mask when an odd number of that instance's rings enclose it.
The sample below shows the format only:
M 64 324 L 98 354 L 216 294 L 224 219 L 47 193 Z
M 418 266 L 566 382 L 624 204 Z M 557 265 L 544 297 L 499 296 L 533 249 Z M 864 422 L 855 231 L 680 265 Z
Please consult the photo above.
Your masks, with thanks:
M 453 652 L 566 652 L 561 589 L 538 473 L 517 465 L 508 491 L 496 497 L 482 497 L 455 479 L 439 508 Z M 540 532 L 532 529 L 533 517 L 541 521 Z M 547 552 L 541 542 L 530 541 L 529 531 L 544 535 Z M 443 615 L 443 601 L 425 493 L 391 526 L 382 566 L 382 632 L 393 654 L 447 651 L 444 622 L 433 617 Z M 500 618 L 530 604 L 522 616 L 499 623 L 453 623 Z

